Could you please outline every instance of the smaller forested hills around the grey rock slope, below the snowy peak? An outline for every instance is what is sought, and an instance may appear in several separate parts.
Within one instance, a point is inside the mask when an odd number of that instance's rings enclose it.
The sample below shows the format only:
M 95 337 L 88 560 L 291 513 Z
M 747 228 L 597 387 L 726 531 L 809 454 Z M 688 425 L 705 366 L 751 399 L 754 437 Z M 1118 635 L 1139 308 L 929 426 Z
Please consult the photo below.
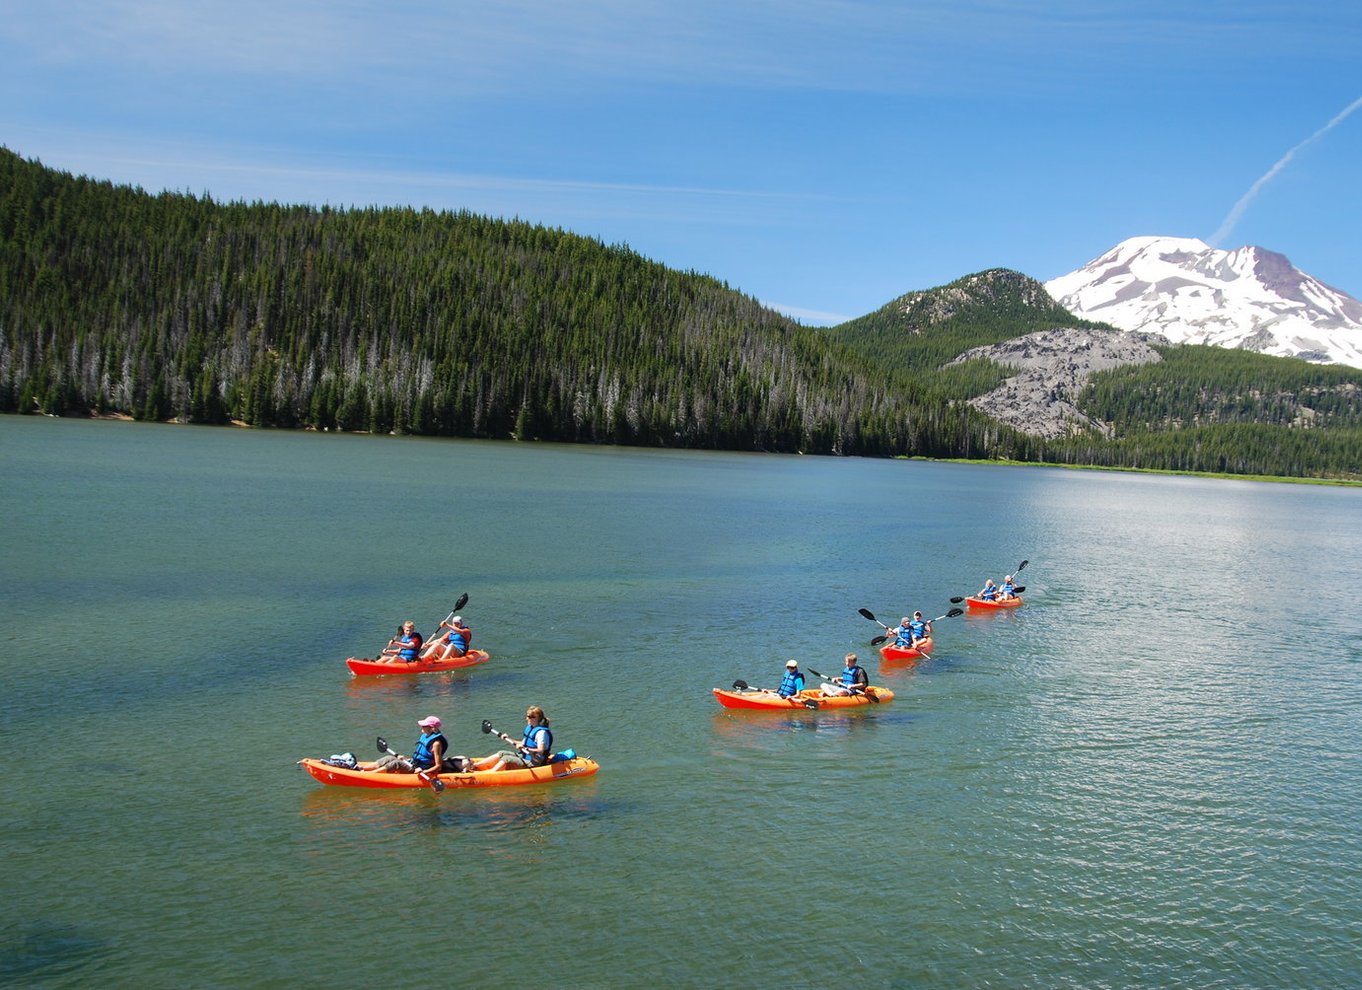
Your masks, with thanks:
M 829 331 L 866 364 L 911 369 L 956 400 L 1000 385 L 1016 392 L 1013 366 L 975 358 L 945 366 L 971 349 L 1012 349 L 1038 331 L 1072 340 L 1068 369 L 1090 364 L 1094 332 L 1118 334 L 1058 306 L 1039 282 L 1002 268 L 914 291 Z M 1130 335 L 1126 335 L 1130 336 Z M 1071 396 L 1035 380 L 1039 409 L 1069 398 L 1096 429 L 1075 425 L 1030 447 L 1031 456 L 1065 464 L 1362 479 L 1362 370 L 1316 365 L 1150 338 L 1159 358 L 1080 374 Z M 997 350 L 1008 350 L 1007 346 Z M 1004 385 L 1007 380 L 1007 385 Z M 1024 418 L 1024 417 L 1023 417 Z

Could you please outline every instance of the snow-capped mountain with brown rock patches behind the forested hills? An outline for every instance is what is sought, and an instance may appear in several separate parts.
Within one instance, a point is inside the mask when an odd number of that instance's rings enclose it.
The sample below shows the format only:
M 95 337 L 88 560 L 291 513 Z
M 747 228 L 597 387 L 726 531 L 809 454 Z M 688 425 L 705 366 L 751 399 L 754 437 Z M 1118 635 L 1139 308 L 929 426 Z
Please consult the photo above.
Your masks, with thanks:
M 1120 330 L 1362 368 L 1362 302 L 1263 248 L 1132 237 L 1045 287 Z

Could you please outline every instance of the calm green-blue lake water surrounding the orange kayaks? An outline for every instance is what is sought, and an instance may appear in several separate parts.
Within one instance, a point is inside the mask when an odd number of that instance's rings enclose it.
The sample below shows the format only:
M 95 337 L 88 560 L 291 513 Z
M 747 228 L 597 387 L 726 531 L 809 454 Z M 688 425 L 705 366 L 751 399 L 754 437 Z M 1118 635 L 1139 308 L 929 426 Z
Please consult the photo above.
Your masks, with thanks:
M 0 417 L 0 985 L 1362 986 L 1359 490 Z M 598 776 L 296 767 L 530 703 Z

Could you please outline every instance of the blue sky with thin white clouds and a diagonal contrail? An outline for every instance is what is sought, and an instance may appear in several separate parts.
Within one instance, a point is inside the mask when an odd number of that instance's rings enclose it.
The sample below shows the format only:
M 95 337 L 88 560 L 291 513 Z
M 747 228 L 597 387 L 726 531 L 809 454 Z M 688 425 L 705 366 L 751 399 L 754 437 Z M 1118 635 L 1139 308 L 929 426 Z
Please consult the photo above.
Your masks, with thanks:
M 519 217 L 810 324 L 1141 234 L 1362 296 L 1337 0 L 0 0 L 0 87 L 57 169 Z

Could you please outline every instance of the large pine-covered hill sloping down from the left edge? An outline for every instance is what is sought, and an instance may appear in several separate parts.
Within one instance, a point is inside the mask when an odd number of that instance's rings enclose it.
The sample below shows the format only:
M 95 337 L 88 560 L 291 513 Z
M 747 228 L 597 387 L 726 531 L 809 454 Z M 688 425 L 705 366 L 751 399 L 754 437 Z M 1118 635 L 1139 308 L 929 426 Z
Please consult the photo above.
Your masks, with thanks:
M 148 195 L 3 148 L 0 410 L 1027 456 L 977 411 L 627 248 L 469 212 Z

